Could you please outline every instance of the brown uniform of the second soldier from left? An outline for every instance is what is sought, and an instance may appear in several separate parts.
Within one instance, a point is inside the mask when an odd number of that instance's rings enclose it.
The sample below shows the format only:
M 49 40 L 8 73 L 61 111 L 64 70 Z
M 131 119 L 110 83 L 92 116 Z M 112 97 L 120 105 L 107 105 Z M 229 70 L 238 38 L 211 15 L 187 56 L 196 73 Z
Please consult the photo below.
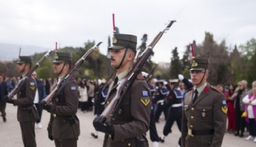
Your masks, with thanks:
M 66 146 L 77 146 L 80 134 L 79 119 L 76 112 L 79 104 L 78 85 L 70 79 L 63 91 L 53 99 L 50 127 L 54 141 L 65 142 Z M 56 144 L 58 146 L 58 143 Z

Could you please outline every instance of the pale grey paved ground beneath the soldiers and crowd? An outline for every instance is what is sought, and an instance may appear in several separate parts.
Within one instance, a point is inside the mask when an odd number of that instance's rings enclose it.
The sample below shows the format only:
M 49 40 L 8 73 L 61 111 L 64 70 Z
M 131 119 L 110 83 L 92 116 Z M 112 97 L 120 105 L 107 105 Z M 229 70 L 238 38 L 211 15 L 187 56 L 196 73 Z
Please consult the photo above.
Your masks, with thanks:
M 22 147 L 22 136 L 19 129 L 19 123 L 17 122 L 17 107 L 14 107 L 12 104 L 7 104 L 6 106 L 7 112 L 7 122 L 3 123 L 0 120 L 0 146 L 1 147 Z M 49 120 L 49 113 L 43 111 L 42 118 L 42 129 L 35 129 L 36 133 L 36 141 L 37 147 L 45 147 L 45 146 L 54 146 L 53 141 L 48 139 L 46 126 Z M 94 119 L 94 115 L 92 112 L 82 113 L 78 112 L 78 117 L 81 124 L 81 135 L 79 136 L 78 146 L 102 146 L 103 142 L 103 133 L 99 134 L 99 138 L 94 139 L 90 135 L 90 133 L 94 132 L 94 128 L 92 126 L 92 120 Z M 164 121 L 160 121 L 160 123 L 156 124 L 156 128 L 158 129 L 159 135 L 162 134 L 162 129 L 164 128 Z M 247 136 L 248 133 L 245 133 L 244 136 Z M 159 147 L 177 147 L 177 141 L 180 136 L 180 132 L 177 130 L 177 125 L 175 124 L 172 127 L 172 133 L 169 134 L 164 143 L 160 143 Z M 147 133 L 147 137 L 149 139 L 149 133 Z M 245 138 L 245 137 L 244 137 Z M 226 133 L 224 137 L 223 147 L 250 147 L 256 146 L 256 143 L 252 141 L 245 141 L 244 138 L 235 137 L 233 134 Z M 150 146 L 152 145 L 149 139 Z

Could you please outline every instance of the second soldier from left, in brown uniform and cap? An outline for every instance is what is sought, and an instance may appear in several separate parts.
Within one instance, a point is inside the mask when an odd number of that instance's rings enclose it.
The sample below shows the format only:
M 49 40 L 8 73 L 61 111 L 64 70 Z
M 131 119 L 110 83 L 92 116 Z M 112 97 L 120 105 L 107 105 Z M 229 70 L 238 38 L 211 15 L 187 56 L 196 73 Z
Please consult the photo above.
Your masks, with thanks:
M 56 53 L 53 61 L 54 74 L 58 80 L 64 78 L 72 65 L 71 53 Z M 53 97 L 51 104 L 40 103 L 44 110 L 50 112 L 48 138 L 54 140 L 56 147 L 76 147 L 80 133 L 79 119 L 76 112 L 79 104 L 78 85 L 74 78 L 69 79 L 62 91 Z

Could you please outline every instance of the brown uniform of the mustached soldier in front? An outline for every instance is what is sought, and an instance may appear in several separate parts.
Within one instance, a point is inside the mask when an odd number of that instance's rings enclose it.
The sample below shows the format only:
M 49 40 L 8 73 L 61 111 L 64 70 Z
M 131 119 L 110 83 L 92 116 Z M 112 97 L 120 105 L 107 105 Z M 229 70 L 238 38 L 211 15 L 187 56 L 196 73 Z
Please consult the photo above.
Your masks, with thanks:
M 115 97 L 116 87 L 117 85 L 110 90 L 106 105 Z M 123 97 L 118 112 L 115 120 L 111 120 L 115 128 L 115 135 L 106 134 L 103 146 L 149 146 L 144 134 L 149 130 L 151 93 L 143 79 L 136 79 L 133 82 Z

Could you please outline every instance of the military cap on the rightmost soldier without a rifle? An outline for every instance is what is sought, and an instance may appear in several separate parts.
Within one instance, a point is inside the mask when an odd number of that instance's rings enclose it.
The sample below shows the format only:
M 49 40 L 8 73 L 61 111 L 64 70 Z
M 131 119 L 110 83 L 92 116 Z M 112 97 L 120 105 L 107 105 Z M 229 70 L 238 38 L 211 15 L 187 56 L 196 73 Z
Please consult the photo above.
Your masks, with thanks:
M 190 71 L 202 71 L 208 69 L 208 58 L 193 58 Z

